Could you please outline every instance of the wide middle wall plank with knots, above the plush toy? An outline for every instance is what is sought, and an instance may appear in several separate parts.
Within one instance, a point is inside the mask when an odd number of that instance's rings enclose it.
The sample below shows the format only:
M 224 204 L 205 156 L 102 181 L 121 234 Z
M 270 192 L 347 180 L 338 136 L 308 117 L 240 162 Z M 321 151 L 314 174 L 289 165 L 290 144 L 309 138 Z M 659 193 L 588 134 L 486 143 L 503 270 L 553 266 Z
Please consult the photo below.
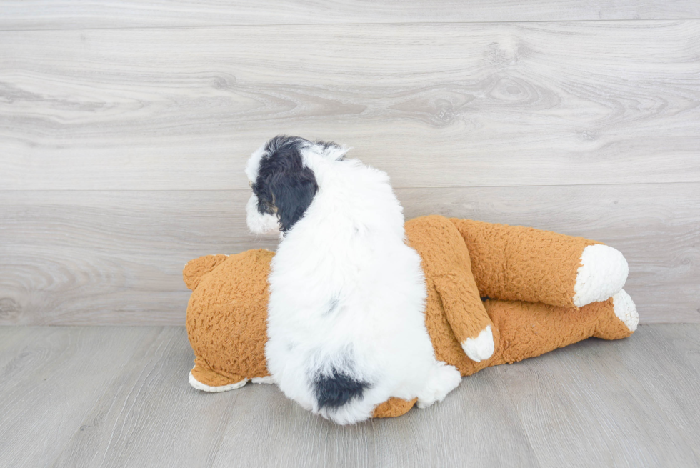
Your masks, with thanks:
M 313 31 L 313 34 L 309 34 Z M 700 181 L 700 21 L 0 33 L 2 189 L 243 189 L 270 136 L 394 186 Z

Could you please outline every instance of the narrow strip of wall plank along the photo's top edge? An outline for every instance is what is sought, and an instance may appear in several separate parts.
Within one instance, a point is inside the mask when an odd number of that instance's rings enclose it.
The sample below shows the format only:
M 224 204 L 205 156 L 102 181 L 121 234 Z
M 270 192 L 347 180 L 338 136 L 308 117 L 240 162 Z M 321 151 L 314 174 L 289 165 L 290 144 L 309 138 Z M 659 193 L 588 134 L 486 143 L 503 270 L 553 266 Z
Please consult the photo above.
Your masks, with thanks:
M 73 29 L 226 24 L 573 21 L 700 17 L 693 0 L 596 1 L 119 1 L 0 3 L 0 29 Z

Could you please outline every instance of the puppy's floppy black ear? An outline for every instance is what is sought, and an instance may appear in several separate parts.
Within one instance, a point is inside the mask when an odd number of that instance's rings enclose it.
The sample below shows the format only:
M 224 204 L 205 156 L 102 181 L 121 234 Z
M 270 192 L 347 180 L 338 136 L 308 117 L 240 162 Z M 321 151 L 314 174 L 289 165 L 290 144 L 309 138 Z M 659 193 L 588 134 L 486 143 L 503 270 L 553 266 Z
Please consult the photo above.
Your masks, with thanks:
M 304 167 L 276 174 L 269 184 L 269 190 L 277 208 L 280 229 L 286 232 L 304 216 L 319 190 L 319 184 L 316 183 L 314 171 Z

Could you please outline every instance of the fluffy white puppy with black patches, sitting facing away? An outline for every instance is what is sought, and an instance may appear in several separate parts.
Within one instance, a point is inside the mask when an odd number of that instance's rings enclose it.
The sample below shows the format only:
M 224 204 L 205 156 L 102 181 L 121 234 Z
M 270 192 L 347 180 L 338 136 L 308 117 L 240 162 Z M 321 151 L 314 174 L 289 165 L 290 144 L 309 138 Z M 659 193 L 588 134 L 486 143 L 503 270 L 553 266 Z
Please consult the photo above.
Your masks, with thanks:
M 252 154 L 247 221 L 280 233 L 271 263 L 268 369 L 287 397 L 339 424 L 389 397 L 427 407 L 461 377 L 437 361 L 419 255 L 382 171 L 333 143 L 277 136 Z

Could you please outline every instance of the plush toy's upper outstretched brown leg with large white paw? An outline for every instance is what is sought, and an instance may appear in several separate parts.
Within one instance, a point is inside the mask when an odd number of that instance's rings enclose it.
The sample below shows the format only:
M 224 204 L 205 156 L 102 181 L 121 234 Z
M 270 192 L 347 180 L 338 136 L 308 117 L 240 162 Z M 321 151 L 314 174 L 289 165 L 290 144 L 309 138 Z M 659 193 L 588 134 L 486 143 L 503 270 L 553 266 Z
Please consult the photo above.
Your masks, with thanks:
M 484 297 L 583 307 L 612 297 L 627 279 L 622 254 L 599 242 L 522 226 L 450 221 L 466 242 Z

